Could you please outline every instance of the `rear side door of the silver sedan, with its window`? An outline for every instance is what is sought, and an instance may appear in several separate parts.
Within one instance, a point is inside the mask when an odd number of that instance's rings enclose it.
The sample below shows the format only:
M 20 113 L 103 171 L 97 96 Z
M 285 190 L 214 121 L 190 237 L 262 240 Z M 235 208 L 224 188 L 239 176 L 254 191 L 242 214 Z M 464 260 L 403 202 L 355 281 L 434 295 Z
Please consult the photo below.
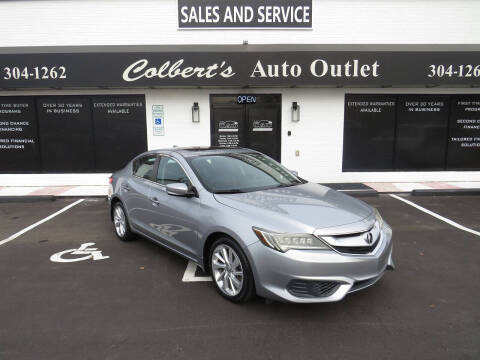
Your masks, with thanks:
M 145 223 L 151 211 L 150 191 L 154 180 L 156 154 L 142 156 L 133 162 L 132 175 L 120 185 L 121 198 L 126 207 L 128 220 L 133 228 L 148 233 Z

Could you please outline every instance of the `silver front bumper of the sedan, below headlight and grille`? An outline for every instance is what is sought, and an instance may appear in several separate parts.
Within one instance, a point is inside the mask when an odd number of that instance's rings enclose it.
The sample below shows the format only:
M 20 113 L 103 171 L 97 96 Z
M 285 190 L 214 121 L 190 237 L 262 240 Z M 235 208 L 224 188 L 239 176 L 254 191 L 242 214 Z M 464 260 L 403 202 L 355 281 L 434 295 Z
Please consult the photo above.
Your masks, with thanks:
M 377 247 L 370 254 L 334 250 L 273 250 L 260 242 L 248 247 L 256 291 L 265 298 L 297 303 L 339 301 L 346 294 L 377 282 L 392 261 L 392 230 L 384 223 Z M 335 284 L 326 296 L 301 296 L 292 284 Z M 327 284 L 328 285 L 328 284 Z

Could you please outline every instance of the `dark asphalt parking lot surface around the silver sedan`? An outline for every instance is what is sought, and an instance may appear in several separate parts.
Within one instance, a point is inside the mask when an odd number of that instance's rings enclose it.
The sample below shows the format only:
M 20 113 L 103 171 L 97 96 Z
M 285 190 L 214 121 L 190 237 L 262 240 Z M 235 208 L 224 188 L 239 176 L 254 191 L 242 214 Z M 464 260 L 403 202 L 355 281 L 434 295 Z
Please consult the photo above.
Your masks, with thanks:
M 405 199 L 480 231 L 480 196 Z M 0 203 L 0 241 L 76 200 Z M 480 236 L 362 200 L 393 228 L 395 271 L 338 303 L 235 305 L 182 282 L 183 258 L 117 240 L 107 202 L 86 199 L 0 245 L 0 359 L 480 358 Z M 50 260 L 84 243 L 102 258 Z

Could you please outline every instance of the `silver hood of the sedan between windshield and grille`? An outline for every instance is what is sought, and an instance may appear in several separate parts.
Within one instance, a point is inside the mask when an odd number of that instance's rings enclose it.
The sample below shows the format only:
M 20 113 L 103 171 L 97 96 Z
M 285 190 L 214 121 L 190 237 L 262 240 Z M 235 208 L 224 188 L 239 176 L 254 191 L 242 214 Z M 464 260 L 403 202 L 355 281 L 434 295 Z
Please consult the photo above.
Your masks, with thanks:
M 268 230 L 291 231 L 292 228 L 302 228 L 304 231 L 313 231 L 342 227 L 362 222 L 373 215 L 373 208 L 363 201 L 315 183 L 214 196 L 219 203 L 267 223 L 257 226 L 266 226 Z M 268 223 L 274 223 L 273 226 L 277 227 L 268 228 Z

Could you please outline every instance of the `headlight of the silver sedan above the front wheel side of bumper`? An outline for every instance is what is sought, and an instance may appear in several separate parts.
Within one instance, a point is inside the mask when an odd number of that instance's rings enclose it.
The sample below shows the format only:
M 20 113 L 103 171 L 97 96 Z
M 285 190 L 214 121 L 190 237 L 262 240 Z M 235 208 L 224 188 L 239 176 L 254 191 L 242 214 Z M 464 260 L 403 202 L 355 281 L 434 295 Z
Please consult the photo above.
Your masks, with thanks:
M 272 249 L 285 252 L 297 250 L 325 250 L 330 249 L 322 240 L 311 234 L 287 234 L 265 231 L 253 228 L 260 241 Z

